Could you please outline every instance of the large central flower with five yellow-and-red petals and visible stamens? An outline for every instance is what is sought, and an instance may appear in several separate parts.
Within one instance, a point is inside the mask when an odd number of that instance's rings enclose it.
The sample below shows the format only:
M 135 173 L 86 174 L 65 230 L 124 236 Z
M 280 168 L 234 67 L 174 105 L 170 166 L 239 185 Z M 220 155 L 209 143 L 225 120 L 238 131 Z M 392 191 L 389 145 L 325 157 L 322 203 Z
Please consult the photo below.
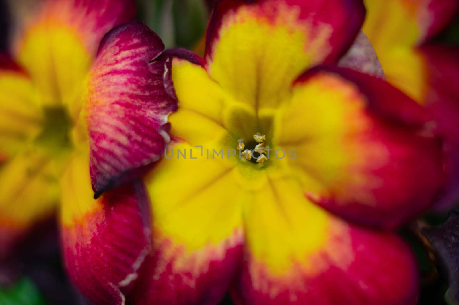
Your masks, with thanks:
M 415 303 L 391 230 L 441 190 L 441 141 L 411 98 L 336 67 L 363 20 L 353 0 L 221 0 L 205 60 L 168 52 L 179 110 L 144 178 L 153 245 L 133 304 L 228 289 L 237 304 Z M 263 163 L 256 139 L 274 152 Z

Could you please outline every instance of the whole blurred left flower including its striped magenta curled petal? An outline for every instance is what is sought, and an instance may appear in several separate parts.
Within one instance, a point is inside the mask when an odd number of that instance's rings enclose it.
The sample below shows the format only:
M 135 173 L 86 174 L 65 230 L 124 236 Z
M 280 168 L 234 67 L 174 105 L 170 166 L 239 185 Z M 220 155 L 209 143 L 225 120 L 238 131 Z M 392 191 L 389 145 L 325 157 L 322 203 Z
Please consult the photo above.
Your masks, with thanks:
M 70 278 L 121 304 L 150 249 L 135 177 L 162 154 L 177 107 L 155 60 L 164 45 L 142 22 L 124 24 L 130 0 L 36 5 L 18 19 L 14 59 L 0 57 L 0 258 L 59 204 Z

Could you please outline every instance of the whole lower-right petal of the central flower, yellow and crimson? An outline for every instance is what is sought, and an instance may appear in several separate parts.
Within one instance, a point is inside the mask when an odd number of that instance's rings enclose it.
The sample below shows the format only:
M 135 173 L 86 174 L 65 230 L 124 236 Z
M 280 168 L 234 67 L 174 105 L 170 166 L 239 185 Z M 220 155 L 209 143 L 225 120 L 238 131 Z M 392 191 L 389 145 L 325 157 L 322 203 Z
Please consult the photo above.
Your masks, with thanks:
M 304 198 L 294 178 L 269 179 L 245 205 L 236 304 L 415 304 L 416 261 L 395 234 L 330 215 Z

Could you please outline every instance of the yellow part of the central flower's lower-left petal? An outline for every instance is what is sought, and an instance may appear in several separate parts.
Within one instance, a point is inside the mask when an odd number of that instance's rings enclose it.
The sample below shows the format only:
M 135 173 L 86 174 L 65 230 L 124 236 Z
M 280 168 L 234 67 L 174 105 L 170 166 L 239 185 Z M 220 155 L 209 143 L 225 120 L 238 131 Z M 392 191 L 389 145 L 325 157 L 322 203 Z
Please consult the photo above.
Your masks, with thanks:
M 188 144 L 174 145 L 171 151 L 145 179 L 153 225 L 190 251 L 218 243 L 241 225 L 241 191 L 233 168 L 219 157 L 213 159 L 212 152 L 207 158 L 205 148 L 202 156 L 200 148 Z M 186 158 L 178 151 L 186 151 Z M 219 213 L 224 219 L 215 218 Z

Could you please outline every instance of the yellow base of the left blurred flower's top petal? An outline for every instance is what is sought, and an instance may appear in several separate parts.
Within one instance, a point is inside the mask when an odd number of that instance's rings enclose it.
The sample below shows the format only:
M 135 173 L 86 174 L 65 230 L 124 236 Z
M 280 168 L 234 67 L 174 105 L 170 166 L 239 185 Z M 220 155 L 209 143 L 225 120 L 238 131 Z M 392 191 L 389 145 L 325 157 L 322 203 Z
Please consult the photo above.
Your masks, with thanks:
M 30 27 L 18 52 L 19 62 L 28 69 L 46 106 L 73 105 L 83 89 L 91 64 L 91 55 L 82 39 L 70 27 L 43 20 Z

